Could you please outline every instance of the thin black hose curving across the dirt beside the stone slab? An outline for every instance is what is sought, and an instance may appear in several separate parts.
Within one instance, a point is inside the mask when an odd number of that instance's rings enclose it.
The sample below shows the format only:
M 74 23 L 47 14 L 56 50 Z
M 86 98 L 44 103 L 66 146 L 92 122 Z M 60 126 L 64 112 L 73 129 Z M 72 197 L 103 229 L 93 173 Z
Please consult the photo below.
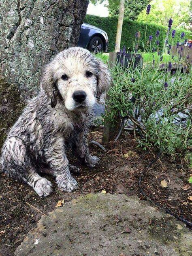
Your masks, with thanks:
M 156 158 L 155 158 L 153 161 L 151 161 L 151 162 L 149 163 L 149 165 L 146 167 L 146 169 L 148 169 L 150 166 L 152 166 L 152 165 L 158 160 L 158 158 L 162 155 L 162 153 L 163 153 L 163 152 L 160 151 L 160 152 L 157 154 Z M 191 223 L 191 222 L 189 222 L 188 220 L 186 220 L 186 219 L 184 219 L 184 218 L 182 218 L 182 217 L 179 217 L 177 214 L 172 213 L 169 209 L 165 209 L 165 208 L 162 207 L 159 203 L 155 203 L 153 200 L 151 200 L 151 199 L 149 199 L 149 198 L 147 197 L 147 195 L 145 194 L 145 192 L 143 191 L 142 186 L 141 186 L 141 181 L 142 181 L 143 173 L 146 171 L 146 169 L 144 169 L 144 170 L 141 172 L 141 175 L 140 175 L 140 177 L 139 177 L 138 186 L 139 186 L 140 193 L 145 197 L 145 199 L 147 199 L 147 201 L 149 201 L 150 203 L 155 204 L 155 205 L 156 205 L 157 207 L 159 207 L 160 209 L 163 209 L 166 213 L 171 214 L 171 215 L 172 215 L 173 217 L 175 217 L 177 220 L 180 220 L 181 222 L 185 223 L 186 226 L 188 226 L 189 228 L 192 228 L 192 223 Z

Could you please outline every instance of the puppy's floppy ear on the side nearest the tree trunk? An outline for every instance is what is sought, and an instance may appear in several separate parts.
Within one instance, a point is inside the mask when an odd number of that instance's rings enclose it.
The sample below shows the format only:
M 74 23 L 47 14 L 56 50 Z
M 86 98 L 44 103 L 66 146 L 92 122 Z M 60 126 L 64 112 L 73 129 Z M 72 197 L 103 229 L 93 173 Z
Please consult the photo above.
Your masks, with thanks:
M 57 100 L 55 97 L 55 81 L 53 80 L 53 70 L 51 64 L 45 66 L 41 77 L 41 86 L 47 96 L 51 99 L 51 107 L 55 107 Z

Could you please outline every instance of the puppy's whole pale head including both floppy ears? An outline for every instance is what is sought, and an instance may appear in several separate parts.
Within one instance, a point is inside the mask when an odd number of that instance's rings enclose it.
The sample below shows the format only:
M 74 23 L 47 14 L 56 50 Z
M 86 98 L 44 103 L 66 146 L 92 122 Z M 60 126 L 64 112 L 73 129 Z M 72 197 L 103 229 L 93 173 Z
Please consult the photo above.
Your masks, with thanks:
M 43 88 L 51 98 L 51 105 L 56 105 L 53 92 L 55 86 L 69 111 L 93 107 L 96 97 L 105 92 L 110 83 L 107 66 L 89 51 L 79 47 L 71 47 L 59 53 L 45 68 L 42 79 Z

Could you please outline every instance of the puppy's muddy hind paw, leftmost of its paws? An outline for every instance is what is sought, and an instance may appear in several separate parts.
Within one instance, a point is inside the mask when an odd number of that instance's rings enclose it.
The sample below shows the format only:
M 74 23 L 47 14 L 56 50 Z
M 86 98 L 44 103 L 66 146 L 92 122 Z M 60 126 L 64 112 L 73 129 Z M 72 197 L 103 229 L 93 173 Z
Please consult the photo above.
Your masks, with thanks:
M 38 179 L 36 181 L 34 191 L 38 194 L 38 196 L 49 196 L 52 192 L 51 182 L 45 178 Z

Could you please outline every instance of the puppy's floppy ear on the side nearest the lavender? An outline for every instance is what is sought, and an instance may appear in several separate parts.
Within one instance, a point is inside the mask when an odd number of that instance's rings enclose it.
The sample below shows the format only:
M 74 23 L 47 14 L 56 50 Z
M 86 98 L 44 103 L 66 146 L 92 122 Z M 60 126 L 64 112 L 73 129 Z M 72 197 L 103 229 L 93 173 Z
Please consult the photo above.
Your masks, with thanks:
M 98 61 L 98 83 L 97 83 L 98 88 L 97 88 L 96 98 L 99 101 L 101 94 L 109 90 L 109 87 L 111 86 L 111 83 L 112 83 L 112 77 L 111 77 L 111 73 L 109 71 L 108 66 L 100 60 L 97 60 L 97 61 Z

